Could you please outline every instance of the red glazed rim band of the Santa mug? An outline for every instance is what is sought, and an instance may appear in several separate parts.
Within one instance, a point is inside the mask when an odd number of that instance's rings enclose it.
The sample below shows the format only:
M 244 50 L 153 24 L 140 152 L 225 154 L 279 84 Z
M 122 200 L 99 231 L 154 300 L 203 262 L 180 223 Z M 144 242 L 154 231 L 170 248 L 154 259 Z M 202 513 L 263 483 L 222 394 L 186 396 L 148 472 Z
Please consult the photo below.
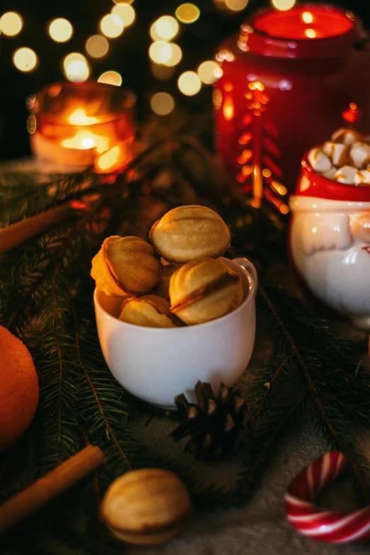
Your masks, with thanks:
M 302 169 L 296 187 L 296 195 L 327 198 L 330 201 L 370 202 L 369 185 L 346 185 L 327 179 L 315 172 L 308 162 L 307 156 L 308 152 L 305 153 L 301 162 Z

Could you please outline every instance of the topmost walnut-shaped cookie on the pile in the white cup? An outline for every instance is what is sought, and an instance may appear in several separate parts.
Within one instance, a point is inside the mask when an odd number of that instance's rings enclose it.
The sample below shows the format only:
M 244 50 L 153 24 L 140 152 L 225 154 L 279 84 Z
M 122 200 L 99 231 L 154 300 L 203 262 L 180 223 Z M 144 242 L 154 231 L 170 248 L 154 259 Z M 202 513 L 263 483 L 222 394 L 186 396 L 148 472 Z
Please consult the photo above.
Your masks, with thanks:
M 231 241 L 230 229 L 218 213 L 198 205 L 170 210 L 152 226 L 149 236 L 164 259 L 179 264 L 220 257 Z

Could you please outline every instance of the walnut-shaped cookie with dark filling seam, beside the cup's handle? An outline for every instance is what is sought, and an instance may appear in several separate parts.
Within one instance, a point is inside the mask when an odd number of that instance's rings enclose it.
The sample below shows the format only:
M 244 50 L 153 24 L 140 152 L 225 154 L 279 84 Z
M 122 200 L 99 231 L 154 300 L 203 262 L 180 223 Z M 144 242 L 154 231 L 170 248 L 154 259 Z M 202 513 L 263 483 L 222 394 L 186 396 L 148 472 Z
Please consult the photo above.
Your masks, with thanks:
M 215 320 L 243 300 L 240 275 L 221 259 L 201 258 L 184 264 L 169 282 L 171 312 L 188 325 Z

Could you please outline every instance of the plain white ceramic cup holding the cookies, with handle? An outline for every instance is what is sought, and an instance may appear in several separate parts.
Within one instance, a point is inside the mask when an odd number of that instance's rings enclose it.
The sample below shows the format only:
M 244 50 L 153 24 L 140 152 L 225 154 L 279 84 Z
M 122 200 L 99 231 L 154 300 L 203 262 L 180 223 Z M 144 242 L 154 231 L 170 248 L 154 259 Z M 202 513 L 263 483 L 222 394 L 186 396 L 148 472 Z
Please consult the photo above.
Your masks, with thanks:
M 242 277 L 245 299 L 231 313 L 203 324 L 157 328 L 121 322 L 122 299 L 95 290 L 101 350 L 127 391 L 171 409 L 179 393 L 195 400 L 198 380 L 210 382 L 217 392 L 221 381 L 232 386 L 244 373 L 254 347 L 257 271 L 246 258 L 223 262 Z

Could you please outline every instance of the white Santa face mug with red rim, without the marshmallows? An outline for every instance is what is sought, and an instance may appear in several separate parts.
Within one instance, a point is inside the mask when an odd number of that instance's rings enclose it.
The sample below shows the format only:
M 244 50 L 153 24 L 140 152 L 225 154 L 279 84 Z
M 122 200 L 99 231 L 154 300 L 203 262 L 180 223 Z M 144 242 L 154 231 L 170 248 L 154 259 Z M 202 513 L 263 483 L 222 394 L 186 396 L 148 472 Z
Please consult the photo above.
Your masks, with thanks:
M 290 252 L 321 301 L 370 329 L 370 186 L 340 184 L 303 159 L 290 201 Z

